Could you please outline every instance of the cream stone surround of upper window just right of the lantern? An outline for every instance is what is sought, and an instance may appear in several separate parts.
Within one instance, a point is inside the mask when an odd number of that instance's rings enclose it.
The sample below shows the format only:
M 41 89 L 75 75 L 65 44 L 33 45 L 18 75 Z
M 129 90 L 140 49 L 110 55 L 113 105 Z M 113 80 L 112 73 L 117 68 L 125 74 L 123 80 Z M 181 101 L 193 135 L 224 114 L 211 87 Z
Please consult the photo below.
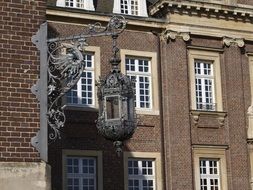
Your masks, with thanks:
M 158 88 L 158 69 L 157 69 L 157 53 L 135 50 L 120 50 L 121 56 L 121 71 L 126 74 L 126 58 L 134 57 L 150 60 L 150 76 L 151 76 L 151 91 L 150 91 L 150 108 L 138 108 L 136 107 L 137 114 L 146 115 L 159 115 L 159 88 Z

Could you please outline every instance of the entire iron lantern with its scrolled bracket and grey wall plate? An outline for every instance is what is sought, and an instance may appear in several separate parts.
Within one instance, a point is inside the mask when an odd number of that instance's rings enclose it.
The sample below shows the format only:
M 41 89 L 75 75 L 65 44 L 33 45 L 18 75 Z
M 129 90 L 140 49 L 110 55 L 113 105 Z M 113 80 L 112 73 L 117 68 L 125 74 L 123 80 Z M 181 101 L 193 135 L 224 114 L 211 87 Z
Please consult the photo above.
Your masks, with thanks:
M 83 52 L 88 46 L 86 40 L 91 37 L 113 38 L 112 70 L 98 83 L 98 131 L 114 142 L 117 152 L 121 151 L 123 141 L 133 135 L 136 128 L 133 82 L 118 69 L 120 59 L 116 47 L 116 39 L 125 27 L 124 17 L 113 16 L 105 27 L 95 23 L 81 34 L 47 39 L 47 23 L 44 23 L 32 37 L 32 42 L 40 50 L 41 62 L 40 79 L 32 87 L 32 92 L 40 101 L 41 127 L 32 138 L 32 144 L 43 160 L 47 161 L 48 143 L 61 138 L 61 129 L 66 121 L 61 98 L 82 75 L 85 68 Z

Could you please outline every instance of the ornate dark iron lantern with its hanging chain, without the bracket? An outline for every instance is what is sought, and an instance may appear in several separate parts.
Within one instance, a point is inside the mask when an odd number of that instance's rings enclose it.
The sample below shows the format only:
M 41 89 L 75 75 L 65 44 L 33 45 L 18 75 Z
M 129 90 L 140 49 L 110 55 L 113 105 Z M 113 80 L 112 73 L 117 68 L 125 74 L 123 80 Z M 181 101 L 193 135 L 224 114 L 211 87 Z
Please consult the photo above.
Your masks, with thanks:
M 117 35 L 114 39 L 114 56 L 110 60 L 111 72 L 98 86 L 99 117 L 98 132 L 106 139 L 113 141 L 118 155 L 122 151 L 123 141 L 132 137 L 136 128 L 134 105 L 134 82 L 122 74 L 118 68 Z

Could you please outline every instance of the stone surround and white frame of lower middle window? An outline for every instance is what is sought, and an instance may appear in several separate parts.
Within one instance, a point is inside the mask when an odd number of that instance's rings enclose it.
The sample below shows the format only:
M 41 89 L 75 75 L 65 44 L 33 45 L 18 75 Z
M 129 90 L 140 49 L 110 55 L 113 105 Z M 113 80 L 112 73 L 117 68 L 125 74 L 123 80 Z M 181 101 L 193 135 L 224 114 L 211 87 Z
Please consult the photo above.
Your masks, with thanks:
M 138 160 L 138 168 L 141 168 L 141 161 L 152 161 L 152 176 L 133 176 L 128 175 L 128 161 L 129 160 Z M 162 178 L 162 167 L 161 167 L 161 154 L 159 152 L 124 152 L 124 190 L 128 190 L 128 179 L 152 179 L 154 189 L 160 190 L 163 189 L 163 178 Z M 136 177 L 136 178 L 135 178 Z M 142 190 L 142 189 L 140 189 Z

